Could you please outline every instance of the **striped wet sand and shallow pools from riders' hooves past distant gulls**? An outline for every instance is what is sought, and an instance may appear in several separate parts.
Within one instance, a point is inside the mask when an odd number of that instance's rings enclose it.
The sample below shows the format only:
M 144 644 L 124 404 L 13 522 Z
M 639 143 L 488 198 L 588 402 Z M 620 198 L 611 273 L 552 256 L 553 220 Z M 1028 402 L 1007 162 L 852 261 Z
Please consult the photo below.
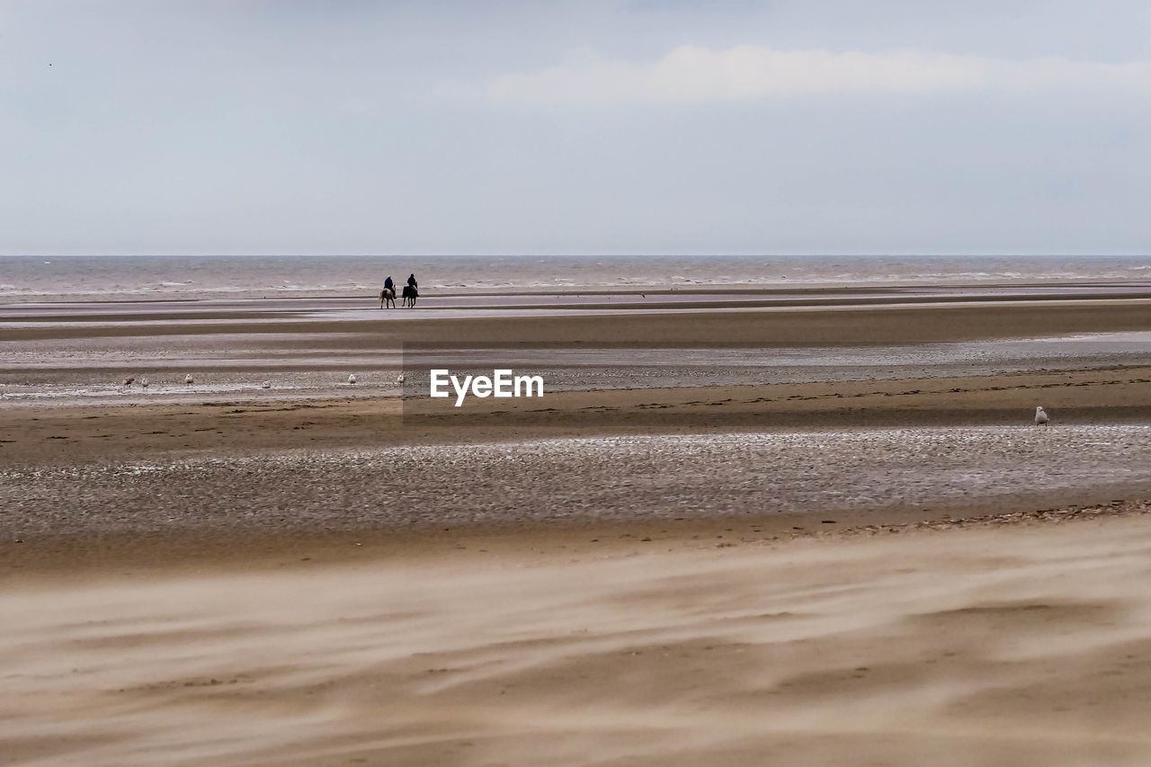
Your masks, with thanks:
M 398 396 L 401 371 L 412 394 L 426 390 L 432 366 L 528 369 L 544 374 L 550 390 L 594 390 L 1151 365 L 1151 301 L 1092 295 L 936 295 L 942 303 L 924 304 L 912 294 L 866 306 L 820 293 L 800 306 L 759 309 L 719 295 L 700 311 L 581 306 L 517 316 L 501 314 L 503 304 L 437 316 L 349 301 L 10 305 L 0 307 L 0 409 Z M 355 387 L 344 385 L 351 373 Z M 193 385 L 184 384 L 188 374 Z M 137 382 L 124 388 L 128 378 Z

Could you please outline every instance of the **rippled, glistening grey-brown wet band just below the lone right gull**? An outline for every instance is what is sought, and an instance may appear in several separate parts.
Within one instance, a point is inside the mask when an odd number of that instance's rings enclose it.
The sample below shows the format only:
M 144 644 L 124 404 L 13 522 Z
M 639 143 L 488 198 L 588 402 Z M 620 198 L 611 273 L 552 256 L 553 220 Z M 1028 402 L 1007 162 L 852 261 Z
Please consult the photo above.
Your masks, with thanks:
M 258 478 L 258 481 L 253 481 Z M 1151 491 L 1151 426 L 683 434 L 0 471 L 14 533 L 355 530 L 1066 506 Z M 1089 498 L 1088 498 L 1089 496 Z M 381 499 L 387 499 L 381 501 Z

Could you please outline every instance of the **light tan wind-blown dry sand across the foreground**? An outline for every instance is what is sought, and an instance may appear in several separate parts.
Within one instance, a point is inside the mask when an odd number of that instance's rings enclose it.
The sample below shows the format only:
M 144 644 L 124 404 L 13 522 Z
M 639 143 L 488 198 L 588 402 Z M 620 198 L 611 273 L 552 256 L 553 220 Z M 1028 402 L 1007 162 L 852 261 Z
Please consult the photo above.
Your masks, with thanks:
M 1149 554 L 1134 516 L 9 584 L 0 754 L 1145 765 Z

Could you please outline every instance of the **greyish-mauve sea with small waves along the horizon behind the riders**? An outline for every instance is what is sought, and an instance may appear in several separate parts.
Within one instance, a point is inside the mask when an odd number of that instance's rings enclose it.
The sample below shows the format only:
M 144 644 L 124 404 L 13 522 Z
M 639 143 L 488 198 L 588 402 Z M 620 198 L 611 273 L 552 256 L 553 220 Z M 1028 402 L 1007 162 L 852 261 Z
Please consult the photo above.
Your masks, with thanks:
M 1151 256 L 0 256 L 0 303 L 868 284 L 1145 282 Z

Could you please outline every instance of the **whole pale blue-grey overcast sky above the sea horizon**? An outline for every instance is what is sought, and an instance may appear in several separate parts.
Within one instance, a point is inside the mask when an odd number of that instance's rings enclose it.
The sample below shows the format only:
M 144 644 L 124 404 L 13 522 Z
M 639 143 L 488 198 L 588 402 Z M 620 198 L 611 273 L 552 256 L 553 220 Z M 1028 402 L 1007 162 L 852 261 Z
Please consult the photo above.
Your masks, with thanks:
M 1151 253 L 1151 3 L 0 0 L 24 253 Z

